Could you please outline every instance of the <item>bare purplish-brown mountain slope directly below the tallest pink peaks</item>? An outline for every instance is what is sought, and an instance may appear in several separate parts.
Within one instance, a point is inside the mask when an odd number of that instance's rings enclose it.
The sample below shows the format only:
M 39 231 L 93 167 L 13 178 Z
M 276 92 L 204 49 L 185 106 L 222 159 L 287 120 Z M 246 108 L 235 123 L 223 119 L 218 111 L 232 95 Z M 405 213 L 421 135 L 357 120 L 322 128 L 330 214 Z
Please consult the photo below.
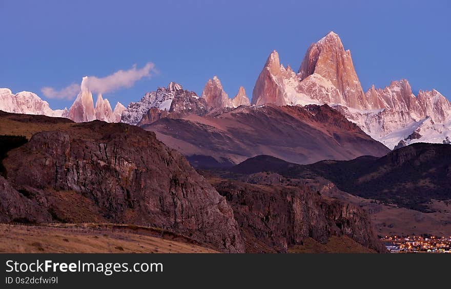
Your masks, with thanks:
M 380 157 L 389 151 L 327 105 L 240 106 L 214 116 L 161 118 L 142 128 L 154 131 L 200 168 L 226 167 L 259 154 L 308 164 Z

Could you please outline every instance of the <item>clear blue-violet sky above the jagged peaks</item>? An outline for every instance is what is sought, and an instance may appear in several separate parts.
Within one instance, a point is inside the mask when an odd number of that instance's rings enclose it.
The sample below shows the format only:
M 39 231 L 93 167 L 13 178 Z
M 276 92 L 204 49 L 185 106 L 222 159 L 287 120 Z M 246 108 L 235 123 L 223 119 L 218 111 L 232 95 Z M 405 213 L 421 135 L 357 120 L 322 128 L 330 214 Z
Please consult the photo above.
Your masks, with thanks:
M 333 30 L 350 49 L 363 90 L 406 78 L 451 98 L 448 1 L 5 1 L 0 0 L 0 87 L 31 91 L 153 62 L 157 75 L 105 93 L 137 101 L 176 81 L 200 94 L 214 75 L 233 97 L 252 97 L 272 50 L 294 70 Z M 73 96 L 75 97 L 75 95 Z

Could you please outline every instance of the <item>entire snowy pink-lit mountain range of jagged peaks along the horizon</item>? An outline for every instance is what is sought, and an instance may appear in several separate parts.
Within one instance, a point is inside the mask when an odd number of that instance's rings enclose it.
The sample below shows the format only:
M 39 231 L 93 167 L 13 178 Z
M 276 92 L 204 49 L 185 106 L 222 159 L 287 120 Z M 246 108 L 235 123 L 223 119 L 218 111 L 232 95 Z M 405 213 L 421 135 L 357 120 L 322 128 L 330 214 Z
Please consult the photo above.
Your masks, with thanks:
M 168 87 L 159 87 L 155 92 L 146 93 L 141 100 L 131 102 L 127 108 L 117 103 L 113 110 L 108 100 L 101 95 L 98 95 L 94 106 L 92 94 L 84 85 L 84 80 L 69 110 L 52 110 L 47 102 L 33 93 L 14 95 L 7 88 L 0 91 L 0 109 L 12 113 L 67 117 L 76 122 L 98 119 L 142 125 L 149 124 L 150 115 L 155 120 L 156 115 L 166 115 L 161 111 L 173 112 L 170 111 L 172 100 L 176 92 L 182 89 L 181 85 L 171 82 Z M 189 94 L 194 100 L 188 102 L 196 103 L 197 108 L 204 107 L 200 113 L 199 110 L 193 110 L 191 114 L 194 115 L 229 113 L 233 108 L 250 104 L 257 107 L 268 104 L 327 104 L 390 149 L 416 142 L 451 143 L 451 104 L 443 95 L 431 90 L 419 91 L 415 96 L 405 79 L 392 81 L 385 88 L 373 85 L 364 92 L 354 69 L 351 52 L 344 49 L 341 39 L 334 32 L 312 43 L 297 72 L 290 65 L 285 68 L 279 61 L 278 53 L 273 51 L 257 78 L 251 101 L 242 86 L 234 98 L 229 98 L 216 76 L 207 81 L 200 97 L 194 92 Z M 180 103 L 178 106 L 174 109 L 181 109 Z M 183 116 L 187 114 L 190 114 L 188 107 Z M 174 116 L 172 114 L 172 118 Z

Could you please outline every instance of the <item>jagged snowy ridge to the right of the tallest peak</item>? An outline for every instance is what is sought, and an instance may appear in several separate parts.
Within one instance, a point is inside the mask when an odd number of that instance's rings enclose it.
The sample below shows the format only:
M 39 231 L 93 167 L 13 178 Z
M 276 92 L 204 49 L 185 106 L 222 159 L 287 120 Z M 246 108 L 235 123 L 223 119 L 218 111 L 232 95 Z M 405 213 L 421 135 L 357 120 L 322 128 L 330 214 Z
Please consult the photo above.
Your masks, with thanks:
M 356 110 L 336 105 L 347 119 L 368 135 L 394 148 L 399 141 L 442 143 L 451 136 L 451 104 L 436 90 L 420 91 L 417 96 L 407 80 L 392 81 L 385 87 L 374 85 L 365 93 L 373 110 Z M 422 131 L 421 138 L 409 135 Z

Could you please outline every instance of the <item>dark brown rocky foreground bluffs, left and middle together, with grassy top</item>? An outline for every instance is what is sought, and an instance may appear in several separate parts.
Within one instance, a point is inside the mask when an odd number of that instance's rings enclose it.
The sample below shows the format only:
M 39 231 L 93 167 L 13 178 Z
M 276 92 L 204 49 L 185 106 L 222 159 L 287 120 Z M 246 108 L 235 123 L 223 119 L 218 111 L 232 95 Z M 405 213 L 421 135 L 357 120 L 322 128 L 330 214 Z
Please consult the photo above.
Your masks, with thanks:
M 288 252 L 304 240 L 323 246 L 331 238 L 383 252 L 358 207 L 306 187 L 210 180 L 213 187 L 139 127 L 3 112 L 0 118 L 4 142 L 13 142 L 1 160 L 3 222 L 144 225 L 221 252 Z

